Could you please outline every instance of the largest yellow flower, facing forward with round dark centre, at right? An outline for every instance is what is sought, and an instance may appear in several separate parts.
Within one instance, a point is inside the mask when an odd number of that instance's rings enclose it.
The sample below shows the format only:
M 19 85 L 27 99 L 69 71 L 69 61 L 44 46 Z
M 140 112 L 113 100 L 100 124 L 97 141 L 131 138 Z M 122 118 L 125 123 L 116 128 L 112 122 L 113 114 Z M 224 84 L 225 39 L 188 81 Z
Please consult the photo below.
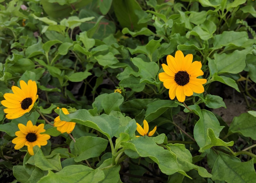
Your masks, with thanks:
M 167 65 L 162 64 L 164 72 L 159 73 L 159 80 L 164 82 L 164 87 L 169 89 L 170 99 L 177 97 L 179 102 L 184 102 L 186 96 L 195 93 L 203 93 L 206 79 L 199 79 L 198 76 L 204 75 L 201 70 L 201 62 L 194 61 L 193 55 L 188 54 L 184 57 L 182 51 L 175 53 L 175 58 L 167 56 Z

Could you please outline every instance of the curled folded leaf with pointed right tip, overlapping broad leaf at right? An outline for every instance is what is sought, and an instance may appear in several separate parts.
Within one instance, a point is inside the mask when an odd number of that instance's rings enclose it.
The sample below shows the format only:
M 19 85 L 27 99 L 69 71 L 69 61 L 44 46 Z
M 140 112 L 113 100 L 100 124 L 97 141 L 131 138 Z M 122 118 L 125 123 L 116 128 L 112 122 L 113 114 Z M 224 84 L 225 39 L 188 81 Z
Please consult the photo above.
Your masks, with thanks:
M 219 137 L 216 137 L 214 131 L 211 128 L 207 129 L 207 141 L 204 147 L 201 147 L 199 152 L 205 152 L 206 149 L 209 149 L 213 146 L 233 146 L 234 141 L 224 142 Z

